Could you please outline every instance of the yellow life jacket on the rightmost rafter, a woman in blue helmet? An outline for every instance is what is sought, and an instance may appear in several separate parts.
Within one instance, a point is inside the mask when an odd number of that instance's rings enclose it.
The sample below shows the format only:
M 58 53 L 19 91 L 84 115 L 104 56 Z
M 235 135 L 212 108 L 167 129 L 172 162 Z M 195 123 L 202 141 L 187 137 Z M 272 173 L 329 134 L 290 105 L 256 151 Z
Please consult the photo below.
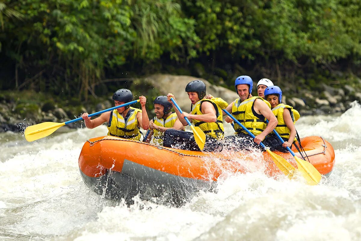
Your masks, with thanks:
M 272 109 L 272 112 L 274 113 L 274 115 L 276 116 L 276 118 L 278 120 L 278 124 L 275 128 L 276 132 L 283 138 L 290 138 L 290 129 L 288 129 L 286 123 L 283 120 L 283 111 L 285 108 L 287 108 L 288 111 L 290 111 L 293 124 L 295 124 L 295 122 L 298 119 L 300 119 L 300 113 L 298 111 L 296 111 L 295 109 L 293 109 L 292 106 L 288 106 L 283 103 L 278 104 L 276 107 L 274 107 Z M 295 138 L 295 141 L 296 141 L 296 138 Z

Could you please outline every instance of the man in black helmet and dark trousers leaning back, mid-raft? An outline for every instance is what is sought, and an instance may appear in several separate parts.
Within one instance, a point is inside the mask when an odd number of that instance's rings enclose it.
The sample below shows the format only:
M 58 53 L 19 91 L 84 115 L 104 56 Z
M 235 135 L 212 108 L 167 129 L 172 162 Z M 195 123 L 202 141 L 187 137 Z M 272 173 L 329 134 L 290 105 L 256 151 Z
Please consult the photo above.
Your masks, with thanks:
M 186 86 L 188 98 L 191 100 L 191 113 L 179 112 L 171 98 L 175 100 L 173 94 L 168 94 L 168 102 L 175 107 L 175 113 L 184 126 L 188 125 L 184 117 L 187 117 L 195 126 L 198 126 L 205 134 L 204 151 L 221 151 L 224 137 L 222 108 L 228 104 L 221 98 L 213 98 L 209 95 L 206 98 L 206 86 L 203 81 L 191 81 Z M 179 149 L 200 151 L 193 133 L 182 130 L 168 129 L 164 133 L 163 145 L 167 147 L 176 147 Z

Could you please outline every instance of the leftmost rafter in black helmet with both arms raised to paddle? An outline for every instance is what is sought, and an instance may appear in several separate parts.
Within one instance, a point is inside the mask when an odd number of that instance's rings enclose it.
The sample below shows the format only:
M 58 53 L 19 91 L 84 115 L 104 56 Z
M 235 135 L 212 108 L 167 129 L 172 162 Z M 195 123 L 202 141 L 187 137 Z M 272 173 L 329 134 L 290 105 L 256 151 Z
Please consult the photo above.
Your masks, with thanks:
M 133 94 L 128 89 L 120 89 L 113 94 L 114 105 L 119 106 L 131 102 Z M 96 128 L 103 123 L 108 123 L 108 135 L 132 139 L 139 141 L 141 137 L 140 127 L 144 130 L 149 128 L 149 118 L 145 103 L 147 98 L 139 96 L 140 105 L 142 109 L 133 108 L 130 106 L 114 109 L 113 111 L 102 113 L 99 117 L 91 120 L 88 113 L 83 113 L 85 126 L 88 129 Z

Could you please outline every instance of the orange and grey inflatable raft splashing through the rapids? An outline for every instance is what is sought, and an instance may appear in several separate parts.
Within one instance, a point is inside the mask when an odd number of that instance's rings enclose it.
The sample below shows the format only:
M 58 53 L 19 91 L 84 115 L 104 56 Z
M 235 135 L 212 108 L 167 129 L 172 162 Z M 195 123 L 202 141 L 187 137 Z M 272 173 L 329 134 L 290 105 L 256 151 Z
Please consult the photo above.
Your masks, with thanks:
M 321 137 L 301 139 L 309 162 L 325 176 L 334 167 L 335 153 Z M 293 149 L 292 149 L 293 150 Z M 301 157 L 296 150 L 297 156 Z M 297 164 L 289 153 L 274 151 Z M 234 173 L 263 170 L 268 176 L 283 175 L 267 152 L 197 152 L 105 136 L 84 143 L 79 168 L 86 185 L 100 195 L 131 202 L 136 194 L 147 198 L 165 193 L 179 201 L 195 191 L 214 189 L 217 180 Z

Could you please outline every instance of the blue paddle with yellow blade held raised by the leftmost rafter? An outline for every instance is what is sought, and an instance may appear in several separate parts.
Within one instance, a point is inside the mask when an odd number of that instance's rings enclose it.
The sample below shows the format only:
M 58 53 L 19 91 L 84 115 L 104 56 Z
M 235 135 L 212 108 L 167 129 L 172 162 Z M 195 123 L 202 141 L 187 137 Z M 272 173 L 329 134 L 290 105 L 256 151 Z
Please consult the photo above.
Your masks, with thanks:
M 120 107 L 128 106 L 130 104 L 134 104 L 134 103 L 137 103 L 137 102 L 139 102 L 139 100 L 133 100 L 131 102 L 121 104 L 120 106 L 114 106 L 112 108 L 104 109 L 103 111 L 98 111 L 98 112 L 90 114 L 89 117 L 96 116 L 96 115 L 99 115 L 101 113 L 104 113 L 104 112 L 107 112 L 107 111 L 112 111 L 113 109 L 118 109 Z M 68 125 L 70 123 L 73 123 L 73 122 L 76 122 L 76 121 L 79 121 L 79 120 L 83 120 L 83 118 L 79 117 L 77 119 L 62 122 L 62 123 L 44 122 L 44 123 L 28 126 L 25 129 L 25 139 L 27 141 L 31 142 L 31 141 L 35 141 L 35 140 L 43 138 L 43 137 L 47 137 L 51 133 L 55 132 L 61 126 Z

